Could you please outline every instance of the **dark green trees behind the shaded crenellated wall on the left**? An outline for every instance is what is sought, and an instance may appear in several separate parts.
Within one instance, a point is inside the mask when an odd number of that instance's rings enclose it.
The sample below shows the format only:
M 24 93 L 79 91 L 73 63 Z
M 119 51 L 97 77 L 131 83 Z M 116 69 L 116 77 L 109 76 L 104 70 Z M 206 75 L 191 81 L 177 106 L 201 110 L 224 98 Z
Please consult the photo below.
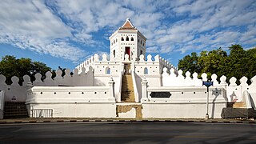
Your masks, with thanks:
M 42 79 L 46 78 L 46 72 L 52 71 L 50 67 L 42 62 L 32 62 L 30 58 L 15 58 L 14 56 L 6 55 L 0 61 L 0 74 L 6 76 L 6 84 L 10 85 L 11 77 L 17 76 L 19 84 L 23 82 L 23 76 L 29 75 L 31 81 L 34 81 L 34 74 L 42 74 Z

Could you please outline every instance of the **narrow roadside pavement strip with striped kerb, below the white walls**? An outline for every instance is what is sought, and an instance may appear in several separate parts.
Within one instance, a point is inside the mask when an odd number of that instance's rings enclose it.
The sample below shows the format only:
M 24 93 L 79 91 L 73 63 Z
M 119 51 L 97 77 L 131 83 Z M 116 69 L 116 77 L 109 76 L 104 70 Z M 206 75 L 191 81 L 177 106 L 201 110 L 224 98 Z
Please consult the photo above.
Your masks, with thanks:
M 209 122 L 209 123 L 251 123 L 250 119 L 174 119 L 174 118 L 14 118 L 1 119 L 0 124 L 42 123 L 42 122 Z

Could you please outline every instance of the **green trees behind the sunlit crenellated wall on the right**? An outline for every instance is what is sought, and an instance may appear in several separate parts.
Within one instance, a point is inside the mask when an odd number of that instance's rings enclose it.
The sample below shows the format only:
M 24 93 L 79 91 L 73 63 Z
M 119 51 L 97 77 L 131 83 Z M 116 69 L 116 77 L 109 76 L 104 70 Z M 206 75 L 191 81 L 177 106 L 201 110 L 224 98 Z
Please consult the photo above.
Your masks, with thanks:
M 256 75 L 256 47 L 244 50 L 240 45 L 229 47 L 230 54 L 222 48 L 211 51 L 202 51 L 199 55 L 191 53 L 179 60 L 178 69 L 190 73 L 197 72 L 199 76 L 206 73 L 208 76 L 217 74 L 225 75 L 227 79 L 235 77 L 238 80 L 246 76 L 250 80 Z M 209 77 L 210 78 L 210 77 Z

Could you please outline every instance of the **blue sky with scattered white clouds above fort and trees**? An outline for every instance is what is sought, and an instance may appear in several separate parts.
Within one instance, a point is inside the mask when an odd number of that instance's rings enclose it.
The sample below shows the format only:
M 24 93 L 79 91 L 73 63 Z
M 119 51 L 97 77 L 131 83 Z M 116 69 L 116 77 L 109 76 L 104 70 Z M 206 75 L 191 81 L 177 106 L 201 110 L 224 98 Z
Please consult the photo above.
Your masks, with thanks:
M 108 37 L 126 18 L 146 36 L 147 54 L 174 66 L 191 52 L 256 45 L 254 0 L 3 0 L 0 57 L 72 70 L 94 54 L 109 54 Z

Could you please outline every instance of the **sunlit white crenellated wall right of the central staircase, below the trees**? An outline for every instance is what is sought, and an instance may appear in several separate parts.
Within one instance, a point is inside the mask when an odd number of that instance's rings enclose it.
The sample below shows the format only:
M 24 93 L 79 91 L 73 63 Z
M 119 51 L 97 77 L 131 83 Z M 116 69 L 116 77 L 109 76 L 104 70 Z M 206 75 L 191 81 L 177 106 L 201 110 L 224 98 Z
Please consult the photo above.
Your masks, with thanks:
M 197 73 L 192 74 L 192 77 L 189 71 L 186 72 L 185 77 L 182 73 L 182 70 L 178 70 L 178 74 L 175 74 L 173 68 L 170 70 L 164 68 L 162 74 L 162 86 L 202 86 L 202 81 L 208 80 L 206 73 L 201 75 L 202 79 L 198 79 Z M 256 94 L 256 76 L 250 79 L 250 85 L 247 83 L 248 78 L 246 77 L 242 77 L 239 80 L 239 85 L 236 83 L 237 78 L 234 77 L 230 78 L 229 82 L 226 82 L 226 76 L 224 75 L 219 79 L 220 80 L 218 81 L 217 74 L 211 75 L 211 82 L 214 82 L 214 86 L 222 86 L 225 88 L 228 102 L 244 102 L 242 98 L 244 91 L 248 91 L 250 94 Z

